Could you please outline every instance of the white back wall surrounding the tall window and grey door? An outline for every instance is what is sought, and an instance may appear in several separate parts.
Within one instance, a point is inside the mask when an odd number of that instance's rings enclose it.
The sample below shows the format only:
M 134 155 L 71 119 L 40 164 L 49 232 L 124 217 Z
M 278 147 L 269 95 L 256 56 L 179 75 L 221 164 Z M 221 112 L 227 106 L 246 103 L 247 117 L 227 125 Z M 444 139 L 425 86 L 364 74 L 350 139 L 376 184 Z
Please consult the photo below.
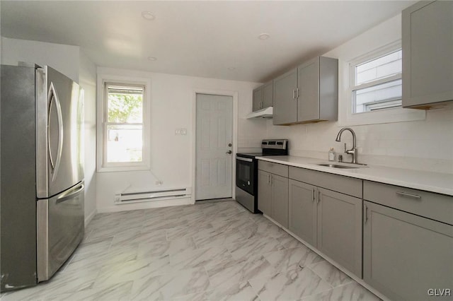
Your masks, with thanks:
M 130 76 L 151 80 L 151 171 L 98 172 L 97 208 L 99 212 L 122 211 L 154 206 L 168 206 L 178 202 L 134 203 L 115 205 L 115 194 L 125 189 L 156 187 L 192 187 L 193 184 L 193 110 L 195 91 L 227 91 L 238 93 L 238 145 L 243 150 L 260 148 L 265 137 L 265 122 L 244 119 L 251 112 L 252 90 L 258 83 L 224 81 L 213 78 L 177 76 L 122 69 L 98 68 L 98 75 Z M 100 100 L 98 100 L 100 101 Z M 176 136 L 175 129 L 185 128 L 186 136 Z

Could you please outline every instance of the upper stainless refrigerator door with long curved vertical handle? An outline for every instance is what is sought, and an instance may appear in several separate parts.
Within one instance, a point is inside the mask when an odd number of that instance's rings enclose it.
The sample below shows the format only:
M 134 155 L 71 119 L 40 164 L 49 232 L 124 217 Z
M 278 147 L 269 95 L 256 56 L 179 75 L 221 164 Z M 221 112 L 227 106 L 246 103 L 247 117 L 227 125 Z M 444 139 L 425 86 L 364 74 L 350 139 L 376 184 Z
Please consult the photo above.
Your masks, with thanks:
M 84 102 L 79 85 L 48 66 L 38 69 L 38 199 L 84 179 Z

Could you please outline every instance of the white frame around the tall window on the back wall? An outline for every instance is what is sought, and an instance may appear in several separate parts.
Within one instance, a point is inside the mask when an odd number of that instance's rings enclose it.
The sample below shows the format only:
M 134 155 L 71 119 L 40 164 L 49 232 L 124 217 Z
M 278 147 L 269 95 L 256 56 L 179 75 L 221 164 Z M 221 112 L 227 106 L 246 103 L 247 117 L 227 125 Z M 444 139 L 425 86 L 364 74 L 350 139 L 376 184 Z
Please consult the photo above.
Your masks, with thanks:
M 144 88 L 143 93 L 143 148 L 141 162 L 108 163 L 107 154 L 107 85 L 131 85 Z M 122 172 L 151 170 L 150 167 L 150 103 L 151 80 L 98 74 L 98 114 L 97 114 L 97 170 L 98 172 Z

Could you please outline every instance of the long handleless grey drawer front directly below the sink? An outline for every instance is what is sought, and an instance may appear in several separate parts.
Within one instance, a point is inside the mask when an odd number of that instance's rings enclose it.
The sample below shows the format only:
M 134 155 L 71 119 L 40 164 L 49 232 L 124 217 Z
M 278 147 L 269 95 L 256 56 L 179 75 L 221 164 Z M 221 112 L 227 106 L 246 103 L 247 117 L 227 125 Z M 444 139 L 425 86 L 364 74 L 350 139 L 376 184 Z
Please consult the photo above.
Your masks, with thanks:
M 306 170 L 300 167 L 289 167 L 289 178 L 297 181 L 323 187 L 333 191 L 362 198 L 362 180 L 342 175 L 333 175 L 327 172 Z

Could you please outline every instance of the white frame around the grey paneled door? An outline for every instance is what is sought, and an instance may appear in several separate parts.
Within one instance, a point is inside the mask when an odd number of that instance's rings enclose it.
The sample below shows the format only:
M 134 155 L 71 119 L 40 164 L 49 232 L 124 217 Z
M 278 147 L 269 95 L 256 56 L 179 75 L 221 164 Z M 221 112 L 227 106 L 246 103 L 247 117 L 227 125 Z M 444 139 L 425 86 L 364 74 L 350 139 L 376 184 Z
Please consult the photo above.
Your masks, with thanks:
M 192 203 L 195 203 L 195 184 L 196 184 L 196 166 L 197 166 L 197 94 L 210 94 L 210 95 L 220 95 L 220 96 L 231 96 L 233 98 L 233 120 L 232 120 L 232 142 L 233 147 L 231 148 L 231 198 L 234 199 L 236 193 L 236 153 L 237 153 L 237 129 L 238 129 L 238 95 L 237 91 L 228 91 L 228 90 L 204 90 L 204 89 L 194 89 L 193 90 L 193 110 L 192 110 L 192 163 L 190 169 L 192 170 Z

